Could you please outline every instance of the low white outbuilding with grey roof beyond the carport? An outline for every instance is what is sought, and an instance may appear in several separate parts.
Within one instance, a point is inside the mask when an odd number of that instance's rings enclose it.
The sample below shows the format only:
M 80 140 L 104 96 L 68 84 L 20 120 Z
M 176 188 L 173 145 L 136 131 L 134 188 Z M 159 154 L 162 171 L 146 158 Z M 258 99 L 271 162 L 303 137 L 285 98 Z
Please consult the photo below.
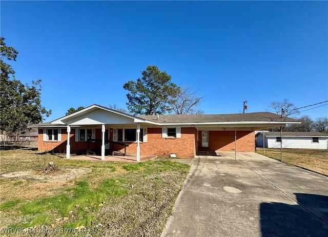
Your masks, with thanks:
M 280 148 L 280 132 L 264 131 L 264 146 Z M 263 132 L 256 133 L 256 146 L 263 147 Z M 321 132 L 282 132 L 282 148 L 327 149 L 328 134 Z

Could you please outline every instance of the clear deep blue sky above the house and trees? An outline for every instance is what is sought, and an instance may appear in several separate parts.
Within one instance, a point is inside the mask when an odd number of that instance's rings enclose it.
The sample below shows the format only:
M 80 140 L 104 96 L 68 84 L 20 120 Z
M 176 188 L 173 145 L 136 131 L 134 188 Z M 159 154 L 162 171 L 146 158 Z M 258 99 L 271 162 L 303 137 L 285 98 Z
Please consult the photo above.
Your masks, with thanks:
M 1 36 L 19 52 L 10 63 L 23 83 L 42 79 L 46 121 L 70 107 L 126 108 L 123 84 L 148 65 L 206 96 L 207 114 L 328 100 L 327 1 L 0 4 Z M 300 115 L 327 116 L 320 105 Z

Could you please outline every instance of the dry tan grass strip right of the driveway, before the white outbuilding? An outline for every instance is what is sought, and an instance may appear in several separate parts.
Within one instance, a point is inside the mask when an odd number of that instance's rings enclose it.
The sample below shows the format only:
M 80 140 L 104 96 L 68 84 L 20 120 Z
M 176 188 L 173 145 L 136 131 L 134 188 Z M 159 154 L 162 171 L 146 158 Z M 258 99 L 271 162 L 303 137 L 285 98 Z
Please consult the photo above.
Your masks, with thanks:
M 263 154 L 263 148 L 256 149 Z M 280 161 L 280 149 L 265 148 L 265 156 Z M 328 175 L 328 150 L 284 148 L 282 162 Z

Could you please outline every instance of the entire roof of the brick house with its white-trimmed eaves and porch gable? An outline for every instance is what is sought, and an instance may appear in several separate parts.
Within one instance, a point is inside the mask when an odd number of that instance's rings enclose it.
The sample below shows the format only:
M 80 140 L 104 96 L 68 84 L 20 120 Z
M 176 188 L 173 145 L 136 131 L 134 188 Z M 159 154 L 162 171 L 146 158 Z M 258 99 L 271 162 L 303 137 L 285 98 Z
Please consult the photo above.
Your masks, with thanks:
M 91 115 L 95 113 L 101 114 L 102 120 L 93 120 Z M 256 112 L 256 113 L 236 113 L 236 114 L 165 114 L 159 115 L 130 115 L 113 109 L 109 109 L 99 105 L 92 105 L 85 109 L 79 110 L 72 114 L 60 117 L 57 120 L 48 123 L 37 124 L 30 127 L 65 127 L 78 126 L 83 124 L 85 120 L 96 122 L 97 124 L 111 124 L 107 118 L 116 116 L 121 118 L 121 121 L 130 121 L 129 123 L 144 123 L 152 126 L 230 126 L 230 127 L 252 127 L 261 129 L 265 127 L 284 126 L 288 123 L 300 123 L 297 120 L 289 117 L 281 117 L 278 114 L 271 112 Z M 78 121 L 78 122 L 76 122 Z M 85 123 L 88 124 L 88 123 Z M 117 124 L 117 123 L 116 123 Z M 124 124 L 124 123 L 122 123 Z

